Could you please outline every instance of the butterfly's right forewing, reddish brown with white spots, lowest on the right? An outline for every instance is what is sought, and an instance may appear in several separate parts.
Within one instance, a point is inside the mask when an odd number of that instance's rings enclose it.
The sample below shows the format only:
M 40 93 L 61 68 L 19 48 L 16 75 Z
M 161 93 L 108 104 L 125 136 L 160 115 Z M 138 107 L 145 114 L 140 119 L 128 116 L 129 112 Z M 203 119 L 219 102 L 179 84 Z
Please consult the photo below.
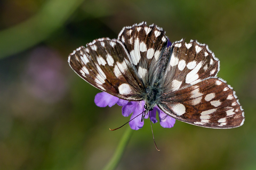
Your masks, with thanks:
M 233 88 L 220 78 L 163 95 L 158 106 L 177 120 L 206 128 L 235 128 L 244 121 Z

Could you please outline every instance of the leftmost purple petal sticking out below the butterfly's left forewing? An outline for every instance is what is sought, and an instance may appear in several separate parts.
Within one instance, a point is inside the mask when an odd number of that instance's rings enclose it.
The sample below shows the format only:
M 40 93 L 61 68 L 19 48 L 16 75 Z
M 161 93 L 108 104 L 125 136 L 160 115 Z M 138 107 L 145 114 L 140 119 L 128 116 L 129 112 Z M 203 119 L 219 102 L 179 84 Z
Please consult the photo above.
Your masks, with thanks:
M 112 107 L 117 103 L 118 100 L 118 97 L 109 95 L 106 92 L 99 92 L 94 98 L 94 103 L 99 107 Z

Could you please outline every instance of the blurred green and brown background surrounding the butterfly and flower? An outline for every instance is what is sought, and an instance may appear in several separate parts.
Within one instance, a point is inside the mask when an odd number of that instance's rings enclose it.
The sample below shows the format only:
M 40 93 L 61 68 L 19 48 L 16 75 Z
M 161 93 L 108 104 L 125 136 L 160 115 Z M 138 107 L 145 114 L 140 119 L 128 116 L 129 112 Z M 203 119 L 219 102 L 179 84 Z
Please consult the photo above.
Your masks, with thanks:
M 256 1 L 0 1 L 0 169 L 102 169 L 129 120 L 99 108 L 69 53 L 147 21 L 171 41 L 197 39 L 220 59 L 245 112 L 240 128 L 216 130 L 149 120 L 134 131 L 117 169 L 256 169 Z

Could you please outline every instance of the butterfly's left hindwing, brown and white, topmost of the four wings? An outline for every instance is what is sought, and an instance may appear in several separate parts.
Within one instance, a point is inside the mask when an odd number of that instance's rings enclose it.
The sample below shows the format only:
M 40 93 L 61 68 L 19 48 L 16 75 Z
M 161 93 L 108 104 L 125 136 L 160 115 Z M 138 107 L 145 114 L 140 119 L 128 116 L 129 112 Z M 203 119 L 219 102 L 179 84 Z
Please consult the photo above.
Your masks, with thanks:
M 130 52 L 134 70 L 143 86 L 149 86 L 162 72 L 161 57 L 167 46 L 165 31 L 157 25 L 147 26 L 146 22 L 124 27 L 118 35 Z

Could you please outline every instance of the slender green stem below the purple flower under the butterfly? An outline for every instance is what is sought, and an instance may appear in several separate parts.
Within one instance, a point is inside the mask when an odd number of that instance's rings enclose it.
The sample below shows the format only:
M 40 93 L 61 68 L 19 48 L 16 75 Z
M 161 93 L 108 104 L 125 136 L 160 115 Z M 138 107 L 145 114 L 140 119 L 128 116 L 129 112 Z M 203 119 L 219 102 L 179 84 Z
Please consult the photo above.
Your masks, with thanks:
M 109 163 L 103 168 L 103 170 L 111 170 L 111 169 L 116 168 L 116 166 L 118 165 L 119 161 L 121 160 L 121 158 L 124 154 L 124 150 L 129 142 L 129 139 L 132 136 L 133 131 L 134 130 L 132 130 L 130 128 L 130 126 L 127 127 L 126 131 L 123 134 L 121 141 L 119 142 L 119 145 L 116 148 L 116 151 L 115 151 L 113 157 L 110 159 Z

